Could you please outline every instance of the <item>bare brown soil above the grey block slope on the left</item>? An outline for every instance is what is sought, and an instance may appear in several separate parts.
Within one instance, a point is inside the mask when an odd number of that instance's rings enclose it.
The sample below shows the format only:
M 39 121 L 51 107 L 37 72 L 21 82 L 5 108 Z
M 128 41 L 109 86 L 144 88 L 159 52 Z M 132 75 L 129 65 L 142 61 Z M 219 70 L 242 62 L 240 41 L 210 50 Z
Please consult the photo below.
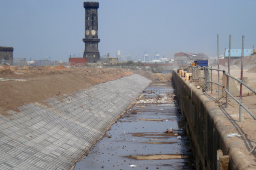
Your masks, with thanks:
M 135 71 L 152 81 L 161 80 L 156 74 Z M 44 103 L 53 96 L 70 94 L 79 89 L 88 88 L 98 83 L 119 79 L 134 74 L 131 70 L 113 68 L 64 68 L 64 66 L 31 67 L 23 70 L 0 70 L 0 113 L 18 111 L 18 107 L 31 102 Z M 162 74 L 163 75 L 163 74 Z M 163 75 L 171 79 L 172 74 Z M 2 78 L 2 79 L 1 79 Z M 3 81 L 11 79 L 8 81 Z M 26 81 L 17 81 L 17 80 Z M 45 103 L 44 103 L 45 104 Z

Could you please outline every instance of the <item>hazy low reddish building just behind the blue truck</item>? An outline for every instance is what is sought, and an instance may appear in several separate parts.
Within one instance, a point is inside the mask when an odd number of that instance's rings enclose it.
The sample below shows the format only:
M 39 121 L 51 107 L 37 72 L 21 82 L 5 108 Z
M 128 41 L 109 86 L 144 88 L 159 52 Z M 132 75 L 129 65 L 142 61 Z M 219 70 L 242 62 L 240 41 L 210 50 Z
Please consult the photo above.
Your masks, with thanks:
M 192 61 L 197 59 L 208 59 L 208 58 L 209 57 L 203 53 L 192 54 L 192 53 L 179 52 L 174 54 L 174 61 L 176 63 L 184 63 L 184 64 L 189 64 Z

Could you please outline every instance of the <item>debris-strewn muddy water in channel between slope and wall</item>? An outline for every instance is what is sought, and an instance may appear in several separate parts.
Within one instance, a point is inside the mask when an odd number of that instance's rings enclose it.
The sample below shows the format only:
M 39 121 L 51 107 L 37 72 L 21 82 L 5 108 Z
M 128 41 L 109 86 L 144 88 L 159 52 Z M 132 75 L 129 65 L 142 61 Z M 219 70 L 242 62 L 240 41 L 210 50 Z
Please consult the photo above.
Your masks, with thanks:
M 170 82 L 161 82 L 138 94 L 134 107 L 76 163 L 75 170 L 195 169 L 173 92 Z

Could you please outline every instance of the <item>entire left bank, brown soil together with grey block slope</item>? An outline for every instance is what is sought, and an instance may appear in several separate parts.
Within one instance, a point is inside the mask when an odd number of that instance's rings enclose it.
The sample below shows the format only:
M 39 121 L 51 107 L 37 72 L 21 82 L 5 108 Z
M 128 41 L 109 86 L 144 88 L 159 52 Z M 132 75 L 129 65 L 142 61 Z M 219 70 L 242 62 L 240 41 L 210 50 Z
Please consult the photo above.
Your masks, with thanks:
M 172 75 L 137 73 L 63 66 L 0 71 L 0 169 L 72 168 L 152 82 L 145 77 Z

